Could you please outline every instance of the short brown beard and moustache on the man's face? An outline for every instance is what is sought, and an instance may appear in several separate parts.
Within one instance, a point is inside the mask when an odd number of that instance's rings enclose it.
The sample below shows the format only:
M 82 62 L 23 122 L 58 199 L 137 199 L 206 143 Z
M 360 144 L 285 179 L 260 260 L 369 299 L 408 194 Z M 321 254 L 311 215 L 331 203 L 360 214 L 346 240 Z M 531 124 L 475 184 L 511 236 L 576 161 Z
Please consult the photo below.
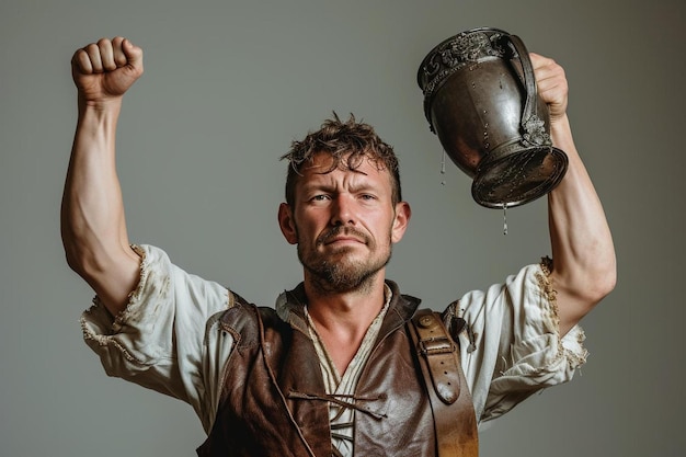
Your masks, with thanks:
M 298 242 L 298 259 L 302 266 L 310 273 L 313 287 L 322 294 L 339 294 L 350 292 L 365 293 L 371 289 L 374 279 L 390 261 L 391 243 L 390 236 L 388 247 L 384 252 L 377 252 L 376 242 L 364 233 L 354 231 L 356 236 L 365 240 L 370 255 L 365 259 L 351 259 L 347 254 L 353 249 L 343 247 L 339 251 L 328 254 L 322 253 L 318 248 L 322 247 L 325 240 L 340 232 L 343 228 L 334 228 L 318 238 L 315 249 L 305 250 L 302 243 Z M 350 232 L 350 229 L 347 229 Z

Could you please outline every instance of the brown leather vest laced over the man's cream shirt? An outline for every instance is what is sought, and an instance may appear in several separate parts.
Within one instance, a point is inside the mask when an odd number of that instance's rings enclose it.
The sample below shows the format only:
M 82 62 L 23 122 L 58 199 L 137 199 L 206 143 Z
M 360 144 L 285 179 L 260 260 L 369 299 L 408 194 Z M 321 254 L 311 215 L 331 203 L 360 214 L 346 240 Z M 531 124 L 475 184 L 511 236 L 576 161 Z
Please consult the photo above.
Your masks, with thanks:
M 388 284 L 393 299 L 355 391 L 355 455 L 436 456 L 432 405 L 407 325 L 419 300 Z M 301 287 L 289 294 L 304 298 Z M 272 308 L 241 300 L 220 322 L 235 346 L 215 424 L 198 456 L 331 457 L 329 407 L 309 336 Z M 467 386 L 464 396 L 468 408 L 458 399 L 451 411 L 456 432 L 476 439 Z

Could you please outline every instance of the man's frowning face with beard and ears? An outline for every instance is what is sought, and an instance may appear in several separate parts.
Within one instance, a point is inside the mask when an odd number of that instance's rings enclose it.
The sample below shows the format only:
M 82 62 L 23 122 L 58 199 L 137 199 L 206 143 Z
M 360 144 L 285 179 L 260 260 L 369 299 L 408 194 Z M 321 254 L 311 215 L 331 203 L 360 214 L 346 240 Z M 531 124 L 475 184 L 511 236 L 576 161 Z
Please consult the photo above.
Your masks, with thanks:
M 330 165 L 330 156 L 318 153 L 300 171 L 295 208 L 283 204 L 279 221 L 298 245 L 306 281 L 324 292 L 350 292 L 382 273 L 404 232 L 409 206 L 393 206 L 390 174 L 374 162 L 327 173 Z

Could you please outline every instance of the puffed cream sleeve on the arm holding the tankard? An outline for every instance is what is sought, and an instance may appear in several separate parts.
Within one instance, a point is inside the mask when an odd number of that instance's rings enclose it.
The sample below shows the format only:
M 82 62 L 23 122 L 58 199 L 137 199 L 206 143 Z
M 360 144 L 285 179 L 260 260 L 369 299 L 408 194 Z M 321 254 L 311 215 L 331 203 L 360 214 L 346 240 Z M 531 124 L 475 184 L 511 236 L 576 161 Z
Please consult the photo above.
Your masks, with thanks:
M 579 325 L 560 336 L 547 265 L 544 260 L 525 266 L 504 284 L 470 292 L 448 308 L 447 315 L 467 321 L 460 352 L 480 423 L 571 380 L 586 361 Z

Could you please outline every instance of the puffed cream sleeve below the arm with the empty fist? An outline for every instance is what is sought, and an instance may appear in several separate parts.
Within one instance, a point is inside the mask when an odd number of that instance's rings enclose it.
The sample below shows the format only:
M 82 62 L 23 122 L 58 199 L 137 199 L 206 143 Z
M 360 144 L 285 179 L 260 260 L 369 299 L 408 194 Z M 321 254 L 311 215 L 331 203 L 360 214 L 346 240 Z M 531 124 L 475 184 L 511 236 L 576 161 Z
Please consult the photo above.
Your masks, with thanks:
M 207 339 L 231 294 L 184 272 L 158 248 L 134 249 L 141 256 L 140 281 L 126 309 L 113 317 L 95 297 L 81 316 L 83 339 L 107 375 L 190 403 L 207 427 L 218 390 L 208 376 L 221 358 Z

